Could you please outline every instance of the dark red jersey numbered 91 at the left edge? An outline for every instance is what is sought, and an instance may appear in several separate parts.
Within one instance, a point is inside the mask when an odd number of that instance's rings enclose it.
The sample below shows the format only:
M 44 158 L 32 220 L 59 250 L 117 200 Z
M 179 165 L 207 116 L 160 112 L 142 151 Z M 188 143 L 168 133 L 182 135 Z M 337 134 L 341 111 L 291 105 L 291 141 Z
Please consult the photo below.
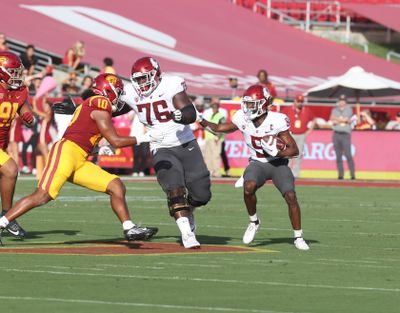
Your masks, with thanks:
M 0 85 L 0 149 L 7 149 L 11 123 L 27 98 L 25 86 L 12 90 Z

